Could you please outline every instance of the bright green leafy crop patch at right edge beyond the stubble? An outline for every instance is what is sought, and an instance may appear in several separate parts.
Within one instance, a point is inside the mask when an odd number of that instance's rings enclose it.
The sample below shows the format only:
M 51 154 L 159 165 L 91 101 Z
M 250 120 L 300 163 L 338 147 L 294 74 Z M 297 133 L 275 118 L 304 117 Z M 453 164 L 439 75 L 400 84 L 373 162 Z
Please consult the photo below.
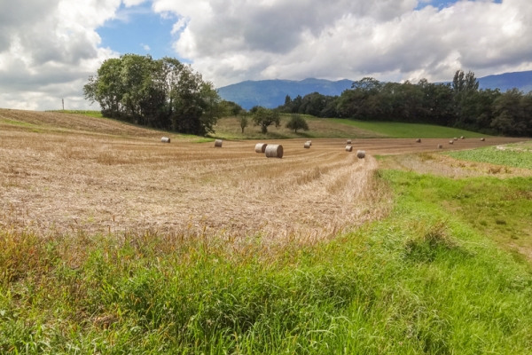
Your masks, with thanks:
M 513 168 L 532 169 L 532 147 L 530 147 L 530 142 L 502 146 L 501 148 L 489 146 L 450 152 L 448 154 L 455 159 L 469 162 L 489 162 Z

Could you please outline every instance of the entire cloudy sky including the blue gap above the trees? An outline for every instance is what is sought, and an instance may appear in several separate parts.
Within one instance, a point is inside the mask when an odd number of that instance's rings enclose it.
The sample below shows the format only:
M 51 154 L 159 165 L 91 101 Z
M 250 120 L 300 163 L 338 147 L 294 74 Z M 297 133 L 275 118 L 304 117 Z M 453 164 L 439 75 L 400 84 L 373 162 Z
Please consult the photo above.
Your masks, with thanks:
M 124 53 L 222 87 L 317 77 L 450 81 L 532 70 L 530 0 L 0 0 L 0 107 L 98 109 L 82 88 Z

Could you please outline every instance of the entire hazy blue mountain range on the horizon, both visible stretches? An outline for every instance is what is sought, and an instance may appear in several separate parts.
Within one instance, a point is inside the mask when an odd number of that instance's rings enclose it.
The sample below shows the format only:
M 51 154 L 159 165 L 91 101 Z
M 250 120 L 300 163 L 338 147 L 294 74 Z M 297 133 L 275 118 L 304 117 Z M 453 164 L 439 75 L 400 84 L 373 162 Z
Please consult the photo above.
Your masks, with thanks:
M 249 109 L 253 106 L 277 107 L 285 103 L 286 95 L 293 99 L 298 95 L 305 96 L 312 92 L 324 95 L 340 95 L 351 88 L 353 80 L 332 82 L 325 79 L 293 80 L 262 80 L 246 81 L 224 86 L 218 90 L 220 97 L 233 101 Z M 520 91 L 532 91 L 532 71 L 489 75 L 479 78 L 481 89 L 500 89 L 507 91 L 518 88 Z

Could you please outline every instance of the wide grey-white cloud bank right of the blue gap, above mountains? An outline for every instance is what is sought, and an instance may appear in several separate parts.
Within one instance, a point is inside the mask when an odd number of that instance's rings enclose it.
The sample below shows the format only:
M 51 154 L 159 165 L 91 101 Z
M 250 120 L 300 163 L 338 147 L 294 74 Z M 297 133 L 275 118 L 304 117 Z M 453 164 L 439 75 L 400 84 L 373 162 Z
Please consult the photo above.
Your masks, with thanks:
M 529 0 L 441 3 L 153 0 L 153 9 L 182 19 L 174 48 L 218 86 L 309 76 L 440 81 L 459 68 L 477 76 L 532 69 Z

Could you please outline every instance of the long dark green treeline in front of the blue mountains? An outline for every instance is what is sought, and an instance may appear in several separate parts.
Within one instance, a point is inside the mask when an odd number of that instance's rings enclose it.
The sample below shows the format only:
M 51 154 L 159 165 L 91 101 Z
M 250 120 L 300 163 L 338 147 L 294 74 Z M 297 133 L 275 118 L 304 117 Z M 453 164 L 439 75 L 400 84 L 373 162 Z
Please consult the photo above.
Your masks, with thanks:
M 292 99 L 285 113 L 364 121 L 423 122 L 487 134 L 532 136 L 532 91 L 479 90 L 472 72 L 458 70 L 452 83 L 381 83 L 365 77 L 340 96 L 314 92 Z

